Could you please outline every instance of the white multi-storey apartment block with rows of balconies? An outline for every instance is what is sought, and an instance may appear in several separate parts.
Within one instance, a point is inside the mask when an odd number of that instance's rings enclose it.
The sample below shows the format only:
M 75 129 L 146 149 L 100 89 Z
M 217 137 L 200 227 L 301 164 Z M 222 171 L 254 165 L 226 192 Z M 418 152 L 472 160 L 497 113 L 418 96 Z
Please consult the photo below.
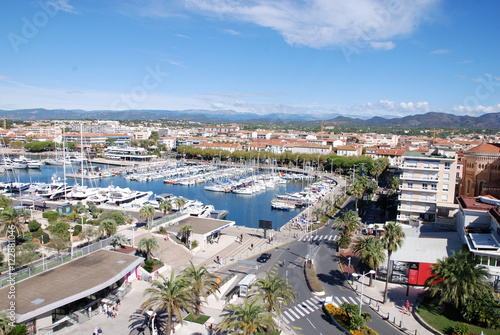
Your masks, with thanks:
M 436 221 L 449 218 L 454 204 L 457 158 L 454 152 L 430 149 L 403 154 L 398 221 Z

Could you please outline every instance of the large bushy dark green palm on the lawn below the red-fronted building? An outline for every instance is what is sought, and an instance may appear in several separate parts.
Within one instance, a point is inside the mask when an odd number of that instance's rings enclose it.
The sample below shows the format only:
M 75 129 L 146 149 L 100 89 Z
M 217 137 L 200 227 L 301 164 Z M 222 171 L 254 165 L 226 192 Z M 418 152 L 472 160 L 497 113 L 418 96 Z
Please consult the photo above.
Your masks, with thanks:
M 452 256 L 439 259 L 437 264 L 431 265 L 431 273 L 425 286 L 429 288 L 431 297 L 440 293 L 440 304 L 446 302 L 460 308 L 466 305 L 468 299 L 492 291 L 487 280 L 487 268 L 478 265 L 469 251 L 453 252 Z

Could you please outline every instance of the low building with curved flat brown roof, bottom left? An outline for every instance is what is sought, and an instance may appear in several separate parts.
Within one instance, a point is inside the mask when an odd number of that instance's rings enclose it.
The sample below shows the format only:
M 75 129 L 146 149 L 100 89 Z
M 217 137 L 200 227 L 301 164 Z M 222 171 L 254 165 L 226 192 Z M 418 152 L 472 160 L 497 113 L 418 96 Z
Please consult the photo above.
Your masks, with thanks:
M 25 324 L 29 335 L 51 334 L 88 320 L 88 308 L 125 289 L 143 261 L 116 251 L 92 252 L 0 289 L 0 310 L 14 306 L 16 323 Z

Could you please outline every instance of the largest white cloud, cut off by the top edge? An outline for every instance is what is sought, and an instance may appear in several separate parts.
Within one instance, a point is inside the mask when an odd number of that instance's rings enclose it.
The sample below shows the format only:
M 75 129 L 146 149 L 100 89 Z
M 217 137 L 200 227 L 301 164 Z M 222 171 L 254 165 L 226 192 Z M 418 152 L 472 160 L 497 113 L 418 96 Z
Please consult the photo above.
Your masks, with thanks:
M 291 45 L 379 47 L 412 33 L 440 0 L 184 0 L 189 9 L 276 30 Z M 371 45 L 375 42 L 374 45 Z

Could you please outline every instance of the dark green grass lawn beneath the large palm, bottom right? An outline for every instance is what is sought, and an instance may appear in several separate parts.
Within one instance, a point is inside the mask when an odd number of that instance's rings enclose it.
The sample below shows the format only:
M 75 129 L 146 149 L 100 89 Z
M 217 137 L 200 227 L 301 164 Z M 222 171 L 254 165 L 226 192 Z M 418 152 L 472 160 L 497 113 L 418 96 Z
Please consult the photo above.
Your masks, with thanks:
M 451 330 L 459 322 L 466 323 L 460 317 L 458 310 L 450 307 L 444 309 L 437 300 L 425 299 L 418 307 L 418 314 L 425 322 L 443 334 L 451 334 Z M 469 332 L 473 334 L 479 334 L 481 331 L 484 332 L 484 335 L 498 335 L 500 333 L 498 329 L 486 329 L 471 324 L 468 326 Z

